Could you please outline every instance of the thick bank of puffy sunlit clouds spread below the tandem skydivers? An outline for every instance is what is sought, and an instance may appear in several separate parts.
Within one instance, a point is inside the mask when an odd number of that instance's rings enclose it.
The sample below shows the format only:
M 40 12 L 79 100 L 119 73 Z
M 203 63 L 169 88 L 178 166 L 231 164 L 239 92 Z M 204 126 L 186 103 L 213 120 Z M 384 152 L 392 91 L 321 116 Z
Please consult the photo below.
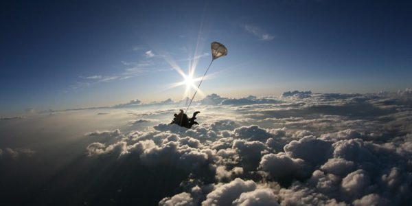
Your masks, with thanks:
M 149 205 L 405 205 L 412 105 L 402 95 L 292 91 L 279 102 L 213 94 L 194 104 L 201 124 L 191 129 L 168 124 L 177 102 L 132 101 L 127 111 L 105 108 L 127 115 L 119 129 L 86 133 L 82 152 L 90 167 L 104 162 L 99 178 L 125 184 L 111 182 L 118 190 L 162 191 Z M 16 148 L 1 153 L 23 157 Z M 127 180 L 111 169 L 122 166 Z

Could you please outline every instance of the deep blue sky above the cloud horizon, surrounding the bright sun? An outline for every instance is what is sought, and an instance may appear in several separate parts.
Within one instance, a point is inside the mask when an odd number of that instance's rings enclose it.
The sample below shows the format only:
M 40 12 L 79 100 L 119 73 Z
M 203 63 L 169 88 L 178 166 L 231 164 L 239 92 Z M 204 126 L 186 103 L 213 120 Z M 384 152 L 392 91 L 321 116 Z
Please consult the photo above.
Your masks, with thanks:
M 183 98 L 169 89 L 209 44 L 205 94 L 229 97 L 412 87 L 407 1 L 1 3 L 0 114 Z M 193 92 L 193 91 L 192 91 Z M 201 98 L 199 96 L 198 98 Z

